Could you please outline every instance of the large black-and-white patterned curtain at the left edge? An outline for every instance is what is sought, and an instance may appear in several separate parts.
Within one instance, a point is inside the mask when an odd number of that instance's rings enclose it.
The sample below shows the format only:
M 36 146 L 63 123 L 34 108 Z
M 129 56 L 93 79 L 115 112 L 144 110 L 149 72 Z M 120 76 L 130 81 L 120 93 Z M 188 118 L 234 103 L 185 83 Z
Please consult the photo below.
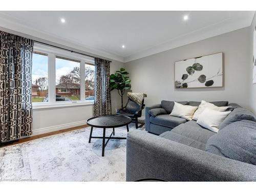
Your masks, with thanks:
M 0 31 L 0 142 L 32 134 L 33 44 Z

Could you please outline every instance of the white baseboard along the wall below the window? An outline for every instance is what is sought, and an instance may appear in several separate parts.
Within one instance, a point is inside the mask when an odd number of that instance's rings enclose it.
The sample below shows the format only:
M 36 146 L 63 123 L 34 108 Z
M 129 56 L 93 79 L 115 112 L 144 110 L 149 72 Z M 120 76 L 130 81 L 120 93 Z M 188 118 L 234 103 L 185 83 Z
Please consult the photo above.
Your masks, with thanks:
M 32 136 L 40 135 L 40 134 L 44 134 L 44 133 L 50 133 L 50 132 L 54 132 L 54 131 L 58 131 L 58 130 L 64 130 L 64 129 L 68 129 L 68 128 L 75 127 L 75 126 L 86 125 L 86 122 L 87 122 L 87 120 L 83 120 L 83 121 L 77 121 L 77 122 L 66 123 L 66 124 L 61 124 L 61 125 L 44 127 L 41 129 L 35 129 L 35 130 L 32 130 L 33 131 Z

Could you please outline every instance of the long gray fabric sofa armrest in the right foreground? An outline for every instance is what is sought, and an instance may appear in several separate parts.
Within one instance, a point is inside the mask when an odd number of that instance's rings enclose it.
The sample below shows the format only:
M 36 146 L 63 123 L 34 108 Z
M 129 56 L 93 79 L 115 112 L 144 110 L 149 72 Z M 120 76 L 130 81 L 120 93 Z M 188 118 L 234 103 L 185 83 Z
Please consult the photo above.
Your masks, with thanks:
M 144 131 L 127 135 L 126 181 L 256 181 L 256 166 Z

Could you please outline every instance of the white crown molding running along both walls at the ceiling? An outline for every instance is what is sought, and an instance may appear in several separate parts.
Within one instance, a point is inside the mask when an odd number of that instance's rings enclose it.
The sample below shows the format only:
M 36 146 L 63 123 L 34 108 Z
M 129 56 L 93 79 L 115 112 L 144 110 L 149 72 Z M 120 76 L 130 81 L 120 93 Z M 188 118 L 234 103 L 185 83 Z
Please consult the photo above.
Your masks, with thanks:
M 27 25 L 22 24 L 22 22 L 19 22 L 17 18 L 13 18 L 10 16 L 7 16 L 3 13 L 0 13 L 0 29 L 3 27 L 6 29 L 5 31 L 15 32 L 17 35 L 26 36 L 29 38 L 33 38 L 35 40 L 45 40 L 45 41 L 51 41 L 59 45 L 67 46 L 73 49 L 77 49 L 83 52 L 86 52 L 88 54 L 91 54 L 92 56 L 101 56 L 113 60 L 117 60 L 120 62 L 130 62 L 136 59 L 140 59 L 146 56 L 154 55 L 160 52 L 164 52 L 170 49 L 178 48 L 184 45 L 191 44 L 193 42 L 197 42 L 200 40 L 204 40 L 210 37 L 218 36 L 224 33 L 228 33 L 231 31 L 235 31 L 238 29 L 242 29 L 245 27 L 249 27 L 251 25 L 251 22 L 253 20 L 253 16 L 255 14 L 255 11 L 251 13 L 250 17 L 246 19 L 225 19 L 222 22 L 219 22 L 217 24 L 207 26 L 205 28 L 198 29 L 197 31 L 193 31 L 191 33 L 176 37 L 174 39 L 169 39 L 161 44 L 152 46 L 148 49 L 141 50 L 137 53 L 127 55 L 127 56 L 120 56 L 115 53 L 110 53 L 108 51 L 104 50 L 97 50 L 94 48 L 86 47 L 82 44 L 80 44 L 77 41 L 72 41 L 70 39 L 65 39 L 58 37 L 53 34 L 45 33 L 39 30 L 36 30 L 34 28 L 28 27 Z

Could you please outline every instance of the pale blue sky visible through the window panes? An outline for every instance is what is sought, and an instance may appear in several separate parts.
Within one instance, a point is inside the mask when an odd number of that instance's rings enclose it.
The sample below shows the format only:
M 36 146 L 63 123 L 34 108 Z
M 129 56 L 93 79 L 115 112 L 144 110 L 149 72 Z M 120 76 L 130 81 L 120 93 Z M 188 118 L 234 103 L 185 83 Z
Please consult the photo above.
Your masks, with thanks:
M 90 66 L 90 65 L 87 65 Z M 80 67 L 79 62 L 56 58 L 56 84 L 58 84 L 59 77 L 71 72 L 74 67 Z M 90 66 L 94 69 L 94 66 Z M 33 66 L 32 66 L 32 82 L 39 77 L 48 77 L 48 56 L 33 54 Z

